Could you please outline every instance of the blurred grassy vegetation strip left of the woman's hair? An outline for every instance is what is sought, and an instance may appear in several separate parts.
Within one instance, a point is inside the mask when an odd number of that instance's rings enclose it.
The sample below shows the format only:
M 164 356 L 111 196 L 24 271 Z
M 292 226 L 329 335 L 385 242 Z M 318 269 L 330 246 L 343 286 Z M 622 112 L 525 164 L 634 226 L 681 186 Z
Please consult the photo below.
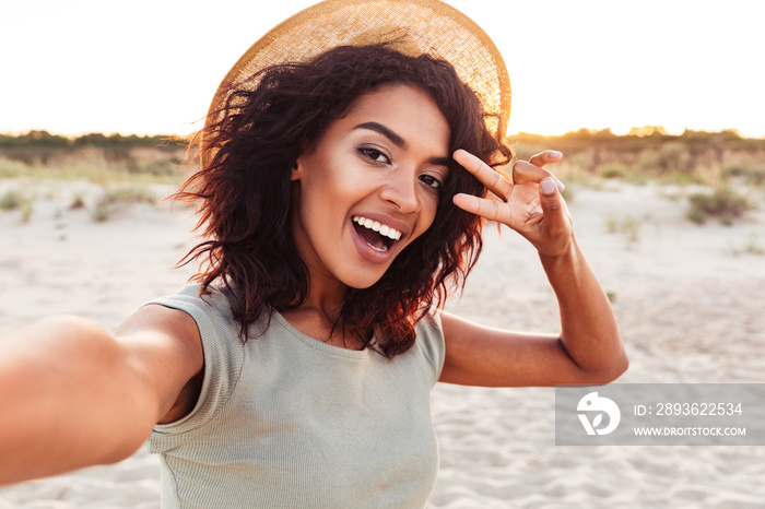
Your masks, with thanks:
M 187 141 L 173 137 L 0 134 L 0 212 L 19 211 L 26 223 L 34 204 L 30 189 L 84 180 L 99 191 L 94 198 L 79 190 L 68 209 L 87 209 L 94 222 L 108 221 L 130 204 L 156 203 L 153 185 L 183 182 L 190 175 L 186 151 Z

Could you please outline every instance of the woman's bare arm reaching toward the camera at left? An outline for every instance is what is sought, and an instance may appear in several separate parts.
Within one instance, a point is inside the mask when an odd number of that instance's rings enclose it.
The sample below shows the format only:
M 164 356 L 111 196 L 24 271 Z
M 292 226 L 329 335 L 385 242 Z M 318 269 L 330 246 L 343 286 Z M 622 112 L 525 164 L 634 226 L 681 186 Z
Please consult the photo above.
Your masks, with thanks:
M 129 457 L 202 363 L 193 320 L 160 306 L 114 336 L 57 317 L 1 338 L 0 485 Z

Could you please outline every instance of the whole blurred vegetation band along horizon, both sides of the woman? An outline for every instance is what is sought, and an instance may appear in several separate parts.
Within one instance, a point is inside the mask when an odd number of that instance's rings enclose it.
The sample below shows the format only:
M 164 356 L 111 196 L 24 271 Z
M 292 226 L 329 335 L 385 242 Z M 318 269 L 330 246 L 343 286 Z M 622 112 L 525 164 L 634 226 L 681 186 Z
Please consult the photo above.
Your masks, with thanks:
M 733 130 L 668 134 L 661 127 L 646 126 L 634 128 L 626 135 L 608 129 L 580 129 L 555 137 L 521 132 L 508 141 L 520 159 L 544 150 L 563 152 L 563 161 L 551 169 L 566 184 L 564 197 L 569 201 L 575 199 L 577 188 L 599 187 L 605 180 L 694 185 L 704 190 L 687 193 L 688 218 L 704 223 L 714 216 L 730 223 L 755 208 L 760 197 L 765 196 L 765 139 L 742 138 Z M 177 185 L 190 175 L 186 150 L 187 140 L 175 137 L 91 133 L 69 138 L 47 131 L 0 134 L 0 180 Z M 754 189 L 754 193 L 743 196 L 742 188 Z M 129 200 L 106 197 L 101 203 L 101 215 L 108 216 L 109 208 L 126 200 L 148 201 L 141 196 Z M 20 209 L 27 202 L 21 197 L 3 196 L 0 209 Z

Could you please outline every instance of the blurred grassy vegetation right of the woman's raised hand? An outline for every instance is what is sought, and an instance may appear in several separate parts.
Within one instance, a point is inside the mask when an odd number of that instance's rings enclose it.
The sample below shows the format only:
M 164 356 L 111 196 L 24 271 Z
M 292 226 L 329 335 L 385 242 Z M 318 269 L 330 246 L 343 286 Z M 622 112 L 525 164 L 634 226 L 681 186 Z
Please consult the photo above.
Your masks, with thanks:
M 563 161 L 551 169 L 566 184 L 566 192 L 577 186 L 598 187 L 603 180 L 695 186 L 698 190 L 687 192 L 686 216 L 697 224 L 716 217 L 730 225 L 765 197 L 765 139 L 742 138 L 733 130 L 674 135 L 647 126 L 626 135 L 581 129 L 557 137 L 521 132 L 509 141 L 519 159 L 544 150 L 563 152 Z M 564 194 L 569 201 L 573 196 Z

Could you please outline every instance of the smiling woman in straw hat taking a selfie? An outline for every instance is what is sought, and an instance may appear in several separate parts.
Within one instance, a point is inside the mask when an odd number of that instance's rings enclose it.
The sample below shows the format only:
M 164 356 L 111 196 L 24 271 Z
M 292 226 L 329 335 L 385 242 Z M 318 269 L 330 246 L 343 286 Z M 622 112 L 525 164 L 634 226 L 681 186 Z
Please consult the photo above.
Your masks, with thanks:
M 330 42 L 345 28 L 350 45 Z M 476 46 L 462 57 L 444 43 L 455 38 Z M 314 47 L 284 57 L 296 40 Z M 455 49 L 449 61 L 436 43 Z M 2 343 L 0 388 L 14 392 L 0 389 L 0 482 L 119 461 L 149 438 L 163 506 L 422 507 L 436 381 L 617 377 L 613 313 L 544 169 L 561 154 L 518 162 L 510 178 L 492 167 L 510 155 L 509 87 L 501 60 L 487 79 L 463 72 L 482 49 L 496 54 L 427 0 L 333 0 L 256 43 L 216 94 L 202 167 L 179 193 L 200 203 L 198 281 L 115 334 L 64 317 Z M 443 311 L 484 220 L 539 251 L 560 334 Z

